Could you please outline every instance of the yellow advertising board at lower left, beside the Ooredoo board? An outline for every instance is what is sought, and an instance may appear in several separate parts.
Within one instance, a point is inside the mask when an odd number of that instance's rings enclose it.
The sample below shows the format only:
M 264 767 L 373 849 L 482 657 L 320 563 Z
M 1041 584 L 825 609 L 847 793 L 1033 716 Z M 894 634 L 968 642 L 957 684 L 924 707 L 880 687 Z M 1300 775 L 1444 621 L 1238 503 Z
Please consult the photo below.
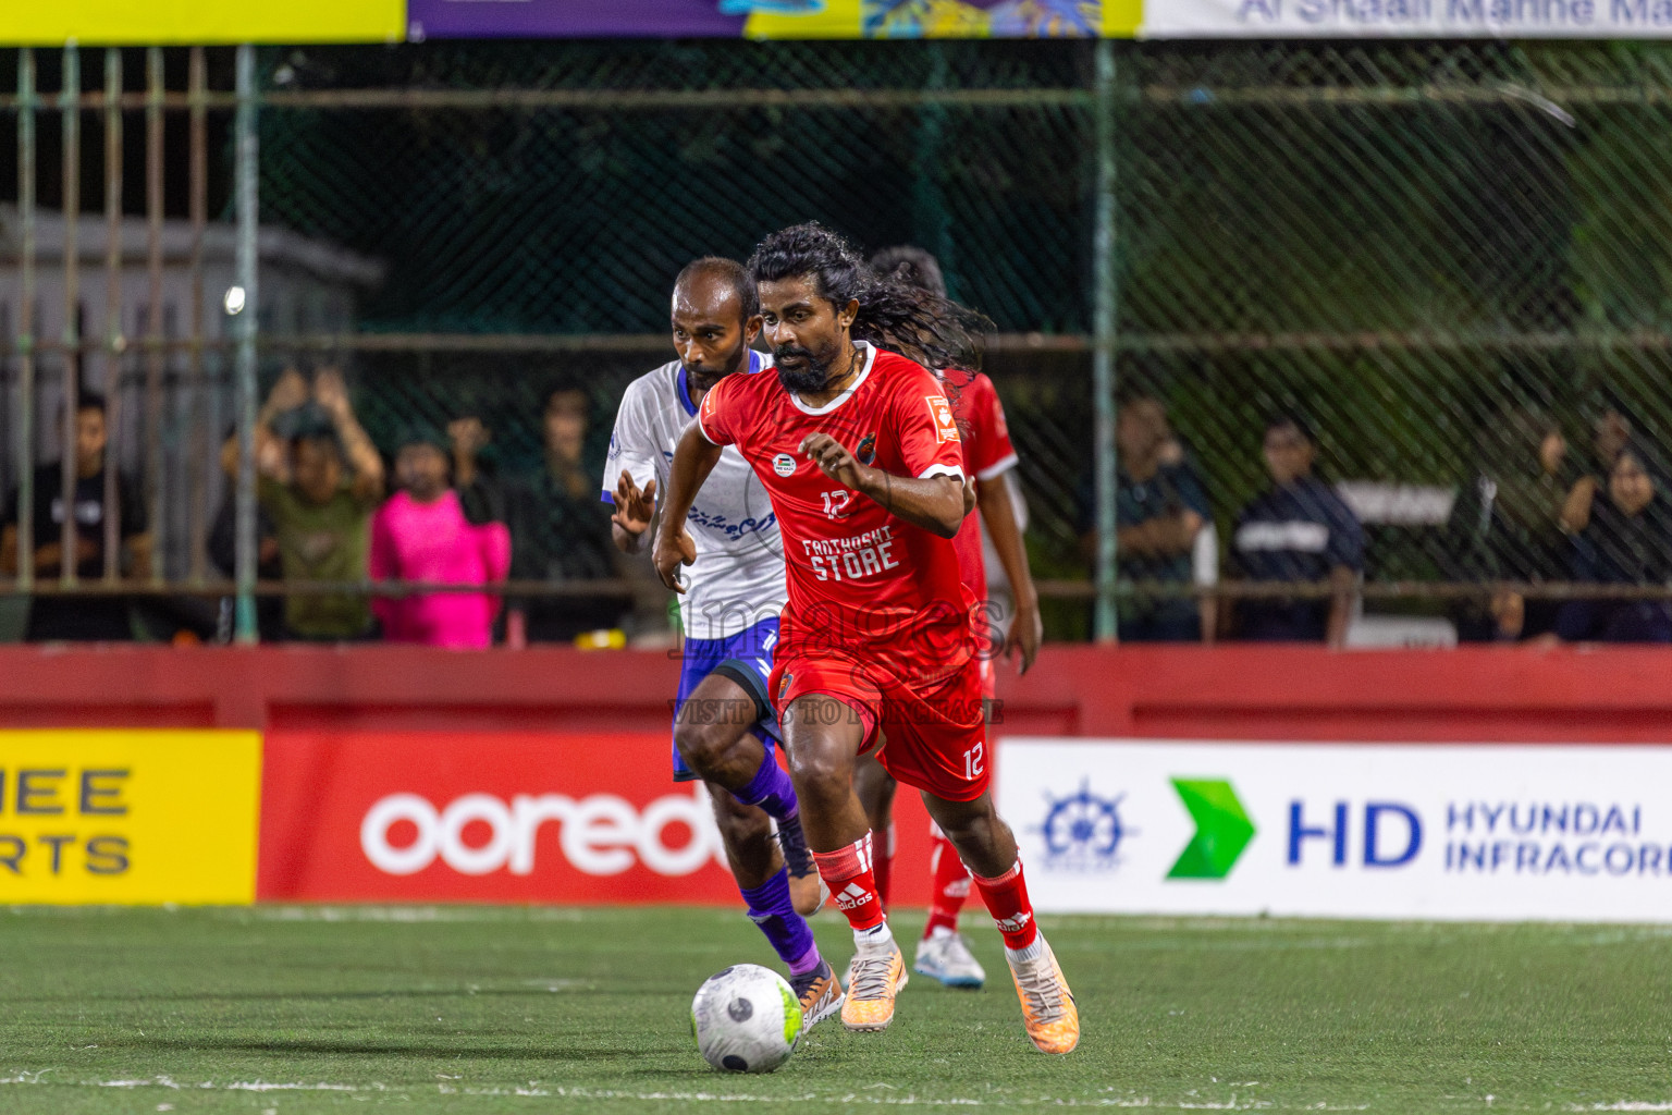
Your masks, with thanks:
M 251 903 L 259 812 L 259 732 L 0 732 L 0 904 Z

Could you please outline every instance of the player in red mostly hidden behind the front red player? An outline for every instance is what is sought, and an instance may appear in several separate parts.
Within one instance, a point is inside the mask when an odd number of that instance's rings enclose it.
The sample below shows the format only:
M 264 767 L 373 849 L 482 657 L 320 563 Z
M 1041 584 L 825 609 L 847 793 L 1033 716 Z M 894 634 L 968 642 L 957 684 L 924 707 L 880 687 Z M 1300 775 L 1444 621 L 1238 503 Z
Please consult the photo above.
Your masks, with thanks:
M 896 277 L 911 286 L 921 288 L 940 298 L 946 296 L 946 283 L 941 277 L 940 261 L 921 247 L 898 246 L 886 247 L 871 256 L 871 267 L 878 274 Z M 976 508 L 980 515 L 970 515 L 958 528 L 953 545 L 958 550 L 958 573 L 963 587 L 978 602 L 978 634 L 986 635 L 998 629 L 1000 617 L 986 608 L 986 562 L 981 553 L 981 527 L 986 525 L 993 537 L 993 548 L 1005 577 L 1012 585 L 1015 598 L 1015 615 L 1005 632 L 1003 647 L 997 647 L 990 639 L 981 644 L 981 692 L 988 699 L 988 707 L 995 699 L 995 657 L 1000 654 L 1017 654 L 1020 657 L 1018 672 L 1025 674 L 1033 665 L 1038 654 L 1042 624 L 1038 614 L 1038 595 L 1033 590 L 1033 577 L 1028 570 L 1027 550 L 1022 545 L 1022 532 L 1017 527 L 1015 505 L 1010 498 L 1010 480 L 1005 473 L 1017 466 L 1017 450 L 1010 441 L 1010 428 L 1005 423 L 1005 408 L 998 401 L 993 381 L 978 371 L 961 368 L 945 371 L 941 383 L 951 401 L 953 421 L 958 423 L 958 435 L 963 443 L 965 471 L 975 480 Z M 895 779 L 874 759 L 863 757 L 854 771 L 854 789 L 859 804 L 864 806 L 871 831 L 876 832 L 879 846 L 873 859 L 876 889 L 888 908 L 890 881 L 895 859 Z M 913 971 L 938 980 L 951 988 L 980 988 L 986 981 L 980 961 L 970 946 L 958 934 L 958 914 L 970 896 L 970 871 L 958 858 L 958 851 L 941 832 L 940 826 L 930 822 L 930 916 L 923 924 L 923 936 L 918 939 Z

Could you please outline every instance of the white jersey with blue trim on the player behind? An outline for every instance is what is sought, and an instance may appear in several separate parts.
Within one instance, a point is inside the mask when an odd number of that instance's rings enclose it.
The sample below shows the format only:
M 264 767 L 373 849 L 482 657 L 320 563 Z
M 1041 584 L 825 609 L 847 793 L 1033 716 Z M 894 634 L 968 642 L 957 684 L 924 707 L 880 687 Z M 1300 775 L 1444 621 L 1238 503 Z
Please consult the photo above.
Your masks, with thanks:
M 749 349 L 749 371 L 734 374 L 769 373 L 771 368 L 771 356 Z M 615 481 L 625 470 L 640 488 L 654 476 L 660 503 L 667 495 L 674 446 L 696 413 L 686 369 L 677 359 L 627 384 L 604 465 L 604 501 L 615 501 Z M 686 593 L 679 607 L 687 637 L 726 639 L 777 619 L 788 600 L 777 517 L 766 488 L 734 446 L 721 453 L 691 507 L 686 528 L 697 543 L 696 563 L 681 570 Z

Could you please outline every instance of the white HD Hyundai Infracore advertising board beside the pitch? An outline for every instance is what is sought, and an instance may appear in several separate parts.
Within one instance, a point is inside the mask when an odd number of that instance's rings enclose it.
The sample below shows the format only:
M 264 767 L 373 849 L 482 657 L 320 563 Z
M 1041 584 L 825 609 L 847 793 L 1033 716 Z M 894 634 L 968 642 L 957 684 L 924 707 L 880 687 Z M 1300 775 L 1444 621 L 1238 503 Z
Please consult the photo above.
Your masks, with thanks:
M 1005 739 L 1043 911 L 1672 921 L 1672 747 Z

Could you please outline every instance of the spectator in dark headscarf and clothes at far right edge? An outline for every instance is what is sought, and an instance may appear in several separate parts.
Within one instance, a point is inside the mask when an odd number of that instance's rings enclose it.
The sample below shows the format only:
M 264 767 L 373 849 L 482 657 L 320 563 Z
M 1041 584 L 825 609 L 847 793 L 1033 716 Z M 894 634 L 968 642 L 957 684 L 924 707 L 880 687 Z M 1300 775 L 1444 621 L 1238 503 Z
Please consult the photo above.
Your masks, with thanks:
M 1665 585 L 1672 580 L 1672 505 L 1667 473 L 1640 443 L 1613 458 L 1608 486 L 1585 512 L 1573 538 L 1573 580 L 1602 585 Z M 1560 639 L 1672 642 L 1665 600 L 1568 600 L 1557 617 Z

